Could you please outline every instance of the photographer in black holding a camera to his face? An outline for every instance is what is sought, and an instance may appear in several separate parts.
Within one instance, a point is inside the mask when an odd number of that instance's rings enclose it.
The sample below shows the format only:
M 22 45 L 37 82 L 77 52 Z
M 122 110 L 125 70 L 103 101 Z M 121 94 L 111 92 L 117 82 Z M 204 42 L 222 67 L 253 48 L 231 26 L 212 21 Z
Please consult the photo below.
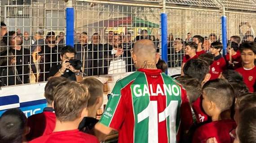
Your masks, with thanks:
M 62 64 L 53 66 L 50 69 L 49 79 L 51 77 L 63 76 L 69 80 L 80 82 L 83 80 L 82 77 L 82 63 L 80 60 L 75 59 L 76 51 L 71 46 L 65 46 L 61 50 L 61 61 Z

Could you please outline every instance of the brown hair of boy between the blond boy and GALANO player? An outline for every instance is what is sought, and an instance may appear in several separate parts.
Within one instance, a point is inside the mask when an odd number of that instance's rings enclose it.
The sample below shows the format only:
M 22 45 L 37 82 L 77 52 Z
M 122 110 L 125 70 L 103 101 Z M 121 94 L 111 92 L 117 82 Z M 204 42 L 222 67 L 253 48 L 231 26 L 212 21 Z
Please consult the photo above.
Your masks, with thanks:
M 88 100 L 87 107 L 90 107 L 95 104 L 97 97 L 101 97 L 104 93 L 104 84 L 100 80 L 97 80 L 94 77 L 89 77 L 84 79 L 82 84 L 85 84 L 90 93 L 90 98 Z

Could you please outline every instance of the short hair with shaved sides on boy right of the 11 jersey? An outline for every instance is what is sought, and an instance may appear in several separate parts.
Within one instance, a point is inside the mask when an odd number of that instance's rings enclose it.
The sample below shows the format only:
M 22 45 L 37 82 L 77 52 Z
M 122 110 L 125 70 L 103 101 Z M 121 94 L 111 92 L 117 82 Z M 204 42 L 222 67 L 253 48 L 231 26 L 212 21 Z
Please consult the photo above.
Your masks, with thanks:
M 207 81 L 203 85 L 207 99 L 214 102 L 222 111 L 230 109 L 234 102 L 234 89 L 225 79 Z

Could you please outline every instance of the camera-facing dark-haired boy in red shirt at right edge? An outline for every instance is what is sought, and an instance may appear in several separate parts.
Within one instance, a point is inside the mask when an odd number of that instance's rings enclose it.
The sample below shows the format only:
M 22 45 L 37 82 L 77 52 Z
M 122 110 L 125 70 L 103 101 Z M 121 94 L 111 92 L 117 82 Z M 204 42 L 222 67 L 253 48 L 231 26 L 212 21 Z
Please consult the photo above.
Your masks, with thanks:
M 243 67 L 236 69 L 242 76 L 244 83 L 250 92 L 254 92 L 254 84 L 256 79 L 256 67 L 254 61 L 256 59 L 256 42 L 243 42 L 240 45 L 241 59 Z

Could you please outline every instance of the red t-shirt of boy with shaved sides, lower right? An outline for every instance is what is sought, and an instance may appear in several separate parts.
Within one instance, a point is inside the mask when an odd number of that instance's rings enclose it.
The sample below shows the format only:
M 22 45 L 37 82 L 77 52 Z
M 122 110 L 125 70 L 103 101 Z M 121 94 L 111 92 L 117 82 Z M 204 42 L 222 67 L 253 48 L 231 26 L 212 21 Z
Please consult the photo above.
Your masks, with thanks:
M 230 131 L 236 128 L 233 120 L 220 120 L 204 124 L 194 132 L 192 143 L 206 143 L 207 139 L 215 137 L 218 143 L 233 143 Z

